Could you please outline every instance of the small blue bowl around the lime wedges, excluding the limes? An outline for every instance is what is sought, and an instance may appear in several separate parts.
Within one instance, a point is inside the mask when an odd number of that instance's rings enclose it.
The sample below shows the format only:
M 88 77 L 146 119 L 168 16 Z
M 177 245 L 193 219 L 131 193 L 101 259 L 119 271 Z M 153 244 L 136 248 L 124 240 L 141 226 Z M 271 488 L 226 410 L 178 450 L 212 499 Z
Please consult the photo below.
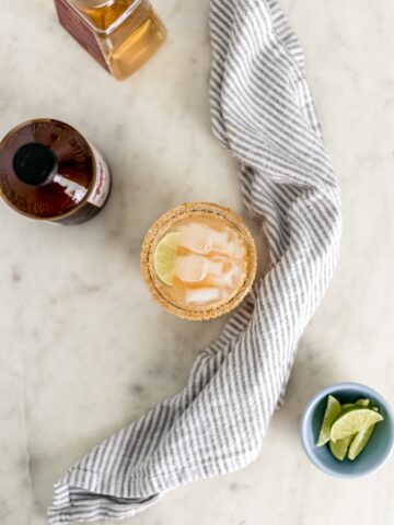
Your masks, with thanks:
M 354 462 L 339 462 L 328 446 L 315 445 L 329 394 L 341 404 L 354 402 L 360 397 L 371 399 L 384 418 L 384 421 L 376 424 L 368 445 Z M 394 446 L 394 416 L 387 401 L 372 388 L 357 383 L 338 383 L 327 386 L 310 400 L 301 418 L 300 432 L 306 456 L 323 472 L 340 478 L 358 478 L 376 470 L 389 459 Z

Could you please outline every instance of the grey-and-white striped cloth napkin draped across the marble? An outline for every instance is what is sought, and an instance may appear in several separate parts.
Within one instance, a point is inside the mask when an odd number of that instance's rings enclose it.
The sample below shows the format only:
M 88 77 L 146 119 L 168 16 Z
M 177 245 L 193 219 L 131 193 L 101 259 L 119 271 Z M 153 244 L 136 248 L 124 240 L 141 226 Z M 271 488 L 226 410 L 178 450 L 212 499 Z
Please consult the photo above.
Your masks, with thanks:
M 276 0 L 211 0 L 210 32 L 212 127 L 241 162 L 271 267 L 185 388 L 56 485 L 51 524 L 129 517 L 170 489 L 252 462 L 335 267 L 339 194 L 294 34 Z

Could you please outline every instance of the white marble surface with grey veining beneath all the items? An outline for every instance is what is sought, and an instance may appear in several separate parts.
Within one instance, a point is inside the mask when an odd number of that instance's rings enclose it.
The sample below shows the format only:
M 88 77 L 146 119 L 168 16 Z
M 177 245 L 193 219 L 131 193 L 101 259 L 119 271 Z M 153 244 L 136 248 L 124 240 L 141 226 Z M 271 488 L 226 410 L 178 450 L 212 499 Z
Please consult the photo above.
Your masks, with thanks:
M 236 165 L 213 139 L 208 0 L 157 0 L 169 40 L 118 83 L 63 32 L 51 0 L 2 0 L 0 135 L 63 119 L 95 142 L 114 191 L 93 221 L 57 229 L 0 206 L 0 523 L 42 525 L 51 485 L 84 452 L 184 384 L 222 320 L 157 306 L 141 240 L 164 210 L 209 199 L 240 211 Z M 360 480 L 305 458 L 303 405 L 352 380 L 394 400 L 394 4 L 286 0 L 305 48 L 344 199 L 338 270 L 301 341 L 287 402 L 257 462 L 169 493 L 135 525 L 389 525 L 394 460 Z

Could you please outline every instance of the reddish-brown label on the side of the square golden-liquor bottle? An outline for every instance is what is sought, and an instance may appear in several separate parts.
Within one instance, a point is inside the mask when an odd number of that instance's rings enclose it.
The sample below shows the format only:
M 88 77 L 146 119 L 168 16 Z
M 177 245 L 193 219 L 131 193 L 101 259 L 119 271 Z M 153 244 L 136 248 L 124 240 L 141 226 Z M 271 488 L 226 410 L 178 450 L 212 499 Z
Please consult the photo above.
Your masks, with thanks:
M 94 32 L 68 0 L 55 0 L 60 24 L 81 44 L 104 69 L 109 71 Z

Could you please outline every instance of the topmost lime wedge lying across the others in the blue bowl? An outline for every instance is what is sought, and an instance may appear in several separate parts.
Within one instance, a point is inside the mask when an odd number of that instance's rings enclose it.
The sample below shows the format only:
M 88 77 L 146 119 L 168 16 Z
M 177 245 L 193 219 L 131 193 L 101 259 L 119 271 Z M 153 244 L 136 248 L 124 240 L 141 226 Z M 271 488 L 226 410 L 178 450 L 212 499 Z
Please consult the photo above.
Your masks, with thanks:
M 335 419 L 329 439 L 336 443 L 382 420 L 382 416 L 370 408 L 360 406 L 347 408 Z

